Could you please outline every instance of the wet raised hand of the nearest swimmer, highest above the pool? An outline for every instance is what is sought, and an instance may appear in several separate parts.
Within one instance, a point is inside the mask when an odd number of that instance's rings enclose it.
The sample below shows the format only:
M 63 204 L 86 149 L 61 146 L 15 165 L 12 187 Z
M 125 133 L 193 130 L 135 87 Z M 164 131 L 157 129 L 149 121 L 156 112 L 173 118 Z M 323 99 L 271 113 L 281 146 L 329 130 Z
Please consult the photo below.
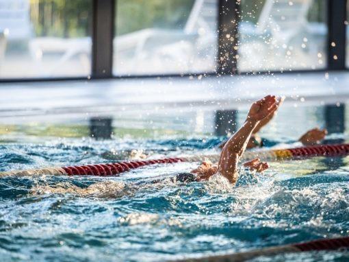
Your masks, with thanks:
M 253 103 L 248 112 L 247 119 L 250 121 L 261 121 L 272 115 L 279 106 L 279 101 L 275 95 L 267 95 L 263 99 Z

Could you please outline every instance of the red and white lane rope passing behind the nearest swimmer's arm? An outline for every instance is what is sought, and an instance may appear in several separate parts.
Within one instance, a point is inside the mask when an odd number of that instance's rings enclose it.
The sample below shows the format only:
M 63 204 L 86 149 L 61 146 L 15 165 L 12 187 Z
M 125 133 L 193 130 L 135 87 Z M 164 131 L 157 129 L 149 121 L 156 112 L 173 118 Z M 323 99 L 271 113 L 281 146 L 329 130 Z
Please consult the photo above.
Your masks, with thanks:
M 261 160 L 289 160 L 294 158 L 309 158 L 314 156 L 347 156 L 349 144 L 338 145 L 312 145 L 308 147 L 296 147 L 283 150 L 248 151 L 242 156 L 242 160 L 260 158 Z M 68 167 L 48 167 L 44 169 L 29 169 L 21 171 L 0 172 L 1 176 L 117 176 L 118 174 L 144 167 L 146 165 L 167 164 L 178 162 L 198 162 L 211 160 L 218 162 L 219 154 L 182 156 L 177 158 L 162 158 L 151 160 L 125 161 L 118 163 L 102 163 L 96 165 L 79 165 Z

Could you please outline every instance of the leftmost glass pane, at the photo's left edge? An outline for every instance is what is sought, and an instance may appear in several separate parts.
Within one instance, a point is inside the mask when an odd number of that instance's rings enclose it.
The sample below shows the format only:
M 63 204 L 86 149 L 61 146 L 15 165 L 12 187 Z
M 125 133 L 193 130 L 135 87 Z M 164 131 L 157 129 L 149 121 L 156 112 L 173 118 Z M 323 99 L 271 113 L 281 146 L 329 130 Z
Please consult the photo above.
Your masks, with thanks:
M 0 78 L 87 76 L 92 0 L 0 0 Z

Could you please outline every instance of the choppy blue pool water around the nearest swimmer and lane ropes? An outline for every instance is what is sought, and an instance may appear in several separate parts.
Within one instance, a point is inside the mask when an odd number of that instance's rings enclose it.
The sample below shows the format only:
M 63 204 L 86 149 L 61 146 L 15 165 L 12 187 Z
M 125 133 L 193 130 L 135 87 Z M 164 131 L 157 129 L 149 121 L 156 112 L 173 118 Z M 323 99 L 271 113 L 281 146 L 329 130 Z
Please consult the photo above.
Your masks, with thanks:
M 196 154 L 222 139 L 64 139 L 0 145 L 0 171 L 108 163 L 130 150 Z M 109 152 L 107 154 L 106 152 Z M 138 151 L 138 154 L 141 152 Z M 1 261 L 164 261 L 349 235 L 349 158 L 270 163 L 235 187 L 168 176 L 198 163 L 148 166 L 120 177 L 0 178 Z M 164 177 L 150 183 L 154 177 Z M 307 252 L 255 261 L 348 261 Z

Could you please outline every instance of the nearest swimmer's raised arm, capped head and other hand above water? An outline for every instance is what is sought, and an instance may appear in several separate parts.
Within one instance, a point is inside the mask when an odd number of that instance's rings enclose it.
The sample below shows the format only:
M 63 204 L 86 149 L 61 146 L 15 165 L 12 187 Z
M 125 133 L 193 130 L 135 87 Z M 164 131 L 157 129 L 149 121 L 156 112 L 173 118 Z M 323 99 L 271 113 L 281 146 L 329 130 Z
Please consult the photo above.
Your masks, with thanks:
M 222 147 L 218 165 L 203 162 L 198 168 L 192 170 L 190 174 L 178 174 L 175 179 L 181 182 L 203 181 L 209 179 L 214 174 L 221 174 L 231 184 L 235 184 L 239 177 L 238 163 L 246 150 L 253 130 L 257 128 L 261 121 L 274 114 L 280 104 L 279 101 L 274 95 L 268 95 L 252 104 L 244 125 Z M 250 160 L 243 165 L 259 172 L 268 169 L 268 163 L 263 163 L 258 158 Z

